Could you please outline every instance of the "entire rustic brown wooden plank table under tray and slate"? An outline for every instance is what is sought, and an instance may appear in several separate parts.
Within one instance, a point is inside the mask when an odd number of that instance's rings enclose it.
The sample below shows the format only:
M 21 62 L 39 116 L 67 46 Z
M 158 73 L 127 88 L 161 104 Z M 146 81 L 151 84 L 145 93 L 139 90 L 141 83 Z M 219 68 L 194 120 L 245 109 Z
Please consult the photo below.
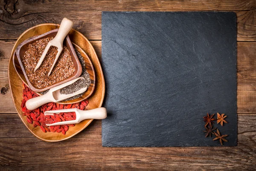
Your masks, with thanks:
M 235 11 L 237 14 L 238 146 L 103 148 L 101 121 L 68 140 L 47 143 L 20 121 L 8 87 L 17 37 L 41 23 L 74 21 L 101 59 L 102 11 Z M 256 0 L 0 0 L 0 170 L 255 170 Z

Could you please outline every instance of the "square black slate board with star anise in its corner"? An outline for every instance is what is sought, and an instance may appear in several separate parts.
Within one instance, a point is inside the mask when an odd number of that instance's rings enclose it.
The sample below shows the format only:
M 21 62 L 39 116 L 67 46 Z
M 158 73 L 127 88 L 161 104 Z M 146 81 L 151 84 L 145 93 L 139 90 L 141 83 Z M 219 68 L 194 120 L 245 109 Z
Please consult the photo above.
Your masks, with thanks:
M 207 112 L 237 145 L 235 13 L 102 12 L 102 67 L 102 146 L 220 146 Z

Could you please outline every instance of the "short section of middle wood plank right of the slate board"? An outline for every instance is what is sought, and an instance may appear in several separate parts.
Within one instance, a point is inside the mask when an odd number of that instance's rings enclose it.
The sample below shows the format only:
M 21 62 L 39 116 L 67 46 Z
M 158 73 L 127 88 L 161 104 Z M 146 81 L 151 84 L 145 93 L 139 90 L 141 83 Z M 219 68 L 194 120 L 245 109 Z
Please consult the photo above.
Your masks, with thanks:
M 238 113 L 256 113 L 256 43 L 237 44 Z

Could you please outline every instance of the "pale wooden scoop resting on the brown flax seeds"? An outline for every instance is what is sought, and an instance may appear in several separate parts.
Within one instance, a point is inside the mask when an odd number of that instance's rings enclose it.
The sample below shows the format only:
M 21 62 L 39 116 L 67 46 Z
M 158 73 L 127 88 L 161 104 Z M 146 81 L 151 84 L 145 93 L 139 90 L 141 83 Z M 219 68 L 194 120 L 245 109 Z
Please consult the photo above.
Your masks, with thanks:
M 55 63 L 57 62 L 58 57 L 61 55 L 61 51 L 63 50 L 63 41 L 64 41 L 65 37 L 67 36 L 68 32 L 73 27 L 73 24 L 74 23 L 72 21 L 68 20 L 67 18 L 64 18 L 61 21 L 61 25 L 60 25 L 60 28 L 58 30 L 57 35 L 51 41 L 48 42 L 46 48 L 44 49 L 44 52 L 43 52 L 41 58 L 39 59 L 38 63 L 35 66 L 34 72 L 40 67 L 40 65 L 44 61 L 44 58 L 45 58 L 49 48 L 51 46 L 55 46 L 55 47 L 58 48 L 58 53 L 57 53 L 56 58 L 55 58 L 55 60 L 54 60 L 54 62 L 52 64 L 52 67 L 51 67 L 51 69 L 50 69 L 50 71 L 48 73 L 48 76 L 51 74 L 52 69 L 53 69 Z

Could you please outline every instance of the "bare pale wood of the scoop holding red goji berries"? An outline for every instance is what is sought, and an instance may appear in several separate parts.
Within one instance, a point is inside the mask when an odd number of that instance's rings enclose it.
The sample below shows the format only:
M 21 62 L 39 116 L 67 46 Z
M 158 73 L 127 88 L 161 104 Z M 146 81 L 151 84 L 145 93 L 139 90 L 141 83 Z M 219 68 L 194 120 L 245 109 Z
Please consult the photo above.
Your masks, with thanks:
M 99 108 L 91 109 L 91 110 L 80 110 L 80 109 L 76 109 L 76 108 L 49 110 L 49 111 L 45 111 L 44 115 L 53 115 L 54 113 L 59 114 L 61 112 L 76 112 L 76 120 L 56 122 L 56 123 L 46 124 L 46 125 L 47 126 L 66 125 L 66 124 L 79 123 L 85 119 L 105 119 L 105 118 L 107 118 L 107 110 L 105 107 L 99 107 Z

